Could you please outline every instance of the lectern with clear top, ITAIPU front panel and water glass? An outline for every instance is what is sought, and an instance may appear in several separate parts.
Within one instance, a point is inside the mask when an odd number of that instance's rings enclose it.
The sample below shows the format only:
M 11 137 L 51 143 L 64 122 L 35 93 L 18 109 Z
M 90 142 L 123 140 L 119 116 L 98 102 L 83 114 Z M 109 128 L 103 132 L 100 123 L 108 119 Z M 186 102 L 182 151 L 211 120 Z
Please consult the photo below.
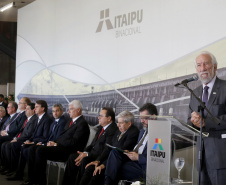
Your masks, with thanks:
M 148 123 L 146 185 L 197 184 L 198 131 L 174 117 L 161 116 Z M 175 160 L 183 159 L 180 179 Z M 178 164 L 177 164 L 178 165 Z M 178 167 L 178 166 L 177 166 Z

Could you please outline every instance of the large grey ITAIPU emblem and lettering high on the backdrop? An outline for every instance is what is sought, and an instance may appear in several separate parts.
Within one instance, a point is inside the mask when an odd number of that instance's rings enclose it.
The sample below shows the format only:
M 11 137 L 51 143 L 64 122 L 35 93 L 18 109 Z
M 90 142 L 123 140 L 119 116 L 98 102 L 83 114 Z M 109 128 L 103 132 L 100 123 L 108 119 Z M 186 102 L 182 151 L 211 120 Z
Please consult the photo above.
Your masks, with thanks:
M 97 26 L 96 33 L 101 32 L 105 23 L 107 30 L 121 28 L 124 26 L 131 26 L 134 23 L 141 23 L 143 20 L 143 10 L 137 10 L 122 15 L 117 15 L 110 19 L 110 10 L 105 9 L 100 11 L 100 22 Z

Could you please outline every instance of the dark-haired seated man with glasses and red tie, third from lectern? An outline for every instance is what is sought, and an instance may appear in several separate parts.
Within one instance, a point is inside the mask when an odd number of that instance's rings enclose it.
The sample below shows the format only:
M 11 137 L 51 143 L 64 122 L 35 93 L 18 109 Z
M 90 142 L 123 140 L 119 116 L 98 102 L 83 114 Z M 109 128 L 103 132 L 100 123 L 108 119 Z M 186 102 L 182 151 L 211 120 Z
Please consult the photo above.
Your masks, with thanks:
M 112 108 L 104 107 L 102 108 L 98 119 L 100 127 L 97 130 L 92 143 L 85 148 L 84 152 L 79 150 L 77 153 L 70 155 L 64 173 L 64 185 L 75 184 L 79 168 L 83 170 L 89 162 L 94 160 L 102 161 L 108 156 L 109 150 L 105 147 L 105 144 L 111 144 L 112 137 L 117 131 L 115 113 Z M 79 178 L 80 176 L 78 177 L 78 180 Z

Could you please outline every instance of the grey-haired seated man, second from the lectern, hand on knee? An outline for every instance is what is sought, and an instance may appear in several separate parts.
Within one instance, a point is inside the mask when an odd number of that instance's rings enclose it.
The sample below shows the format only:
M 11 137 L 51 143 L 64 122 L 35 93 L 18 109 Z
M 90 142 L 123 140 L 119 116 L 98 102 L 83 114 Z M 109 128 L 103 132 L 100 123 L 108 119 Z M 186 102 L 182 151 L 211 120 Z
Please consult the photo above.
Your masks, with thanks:
M 118 119 L 117 126 L 119 130 L 115 133 L 112 139 L 112 146 L 120 148 L 122 150 L 133 150 L 137 143 L 139 136 L 139 129 L 134 126 L 134 115 L 129 111 L 123 111 L 116 117 Z M 111 150 L 111 148 L 109 148 Z M 85 171 L 83 172 L 82 179 L 79 185 L 96 185 L 104 183 L 104 172 L 107 159 L 100 163 L 100 161 L 93 161 L 86 165 Z M 94 170 L 97 166 L 104 167 L 100 169 L 98 173 Z

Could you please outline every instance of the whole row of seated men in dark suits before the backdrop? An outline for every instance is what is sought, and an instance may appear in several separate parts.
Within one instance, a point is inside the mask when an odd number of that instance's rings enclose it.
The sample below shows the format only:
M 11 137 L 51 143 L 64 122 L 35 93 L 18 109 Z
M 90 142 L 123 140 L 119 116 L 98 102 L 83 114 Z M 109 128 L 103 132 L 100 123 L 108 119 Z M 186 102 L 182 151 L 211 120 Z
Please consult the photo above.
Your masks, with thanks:
M 157 115 L 153 104 L 146 103 L 139 109 L 143 124 L 140 131 L 129 111 L 117 115 L 116 124 L 113 109 L 102 108 L 99 128 L 88 146 L 90 130 L 82 116 L 81 102 L 73 100 L 68 109 L 69 120 L 62 105 L 55 104 L 50 118 L 44 100 L 34 104 L 24 97 L 19 102 L 19 113 L 17 103 L 9 102 L 10 116 L 6 119 L 4 107 L 0 107 L 0 121 L 5 119 L 0 122 L 0 172 L 8 176 L 7 180 L 22 180 L 27 164 L 28 178 L 22 185 L 46 185 L 47 160 L 66 162 L 63 185 L 114 185 L 120 179 L 145 179 L 148 120 L 150 115 Z

